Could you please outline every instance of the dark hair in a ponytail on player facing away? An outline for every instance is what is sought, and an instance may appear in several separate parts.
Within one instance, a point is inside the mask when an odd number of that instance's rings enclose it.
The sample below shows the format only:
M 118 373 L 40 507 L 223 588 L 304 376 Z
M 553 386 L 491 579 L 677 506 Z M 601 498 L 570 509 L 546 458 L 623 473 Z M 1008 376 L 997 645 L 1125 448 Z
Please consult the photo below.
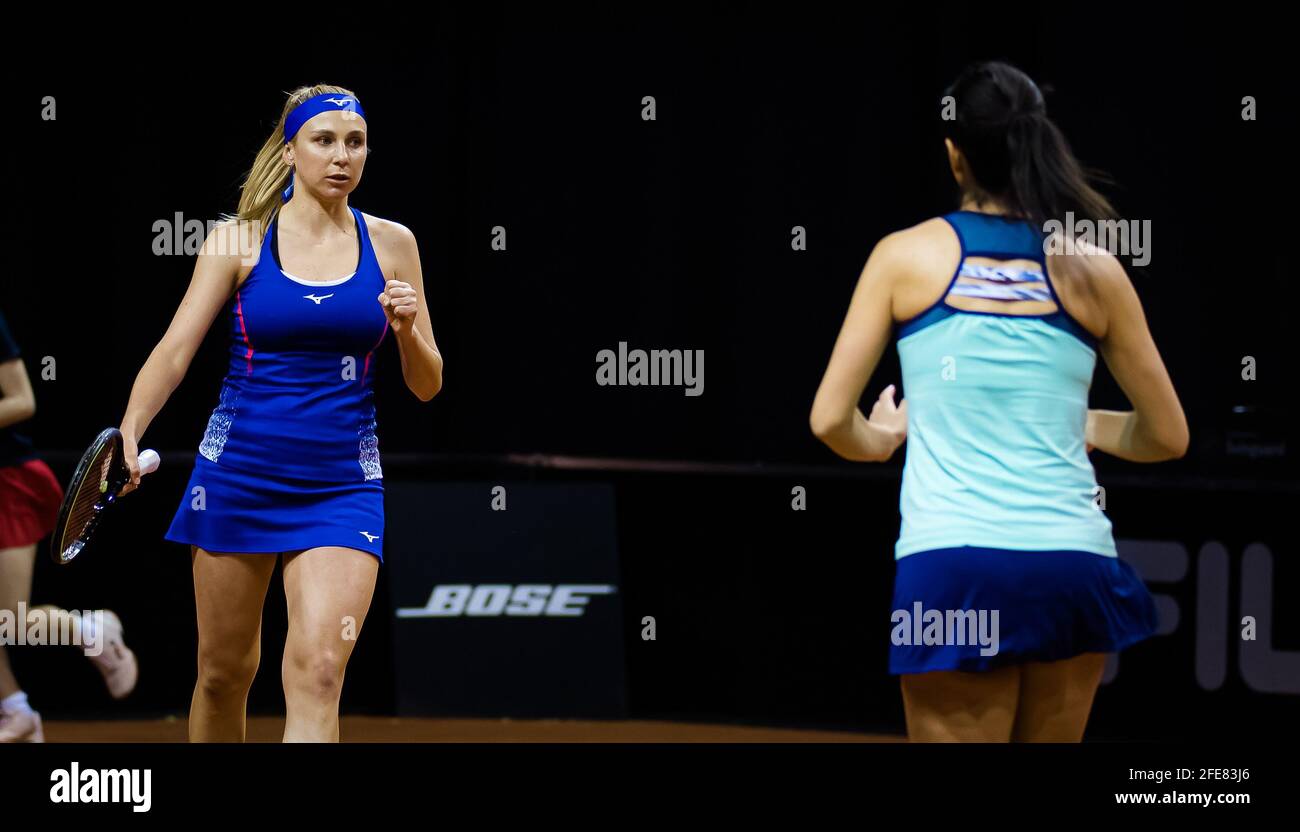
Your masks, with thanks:
M 944 136 L 962 151 L 976 198 L 992 196 L 1043 228 L 1048 220 L 1113 220 L 1115 209 L 1093 190 L 1109 182 L 1084 170 L 1061 130 L 1048 118 L 1037 84 L 998 61 L 972 64 L 945 91 L 956 118 L 944 118 Z M 953 110 L 945 110 L 945 113 Z

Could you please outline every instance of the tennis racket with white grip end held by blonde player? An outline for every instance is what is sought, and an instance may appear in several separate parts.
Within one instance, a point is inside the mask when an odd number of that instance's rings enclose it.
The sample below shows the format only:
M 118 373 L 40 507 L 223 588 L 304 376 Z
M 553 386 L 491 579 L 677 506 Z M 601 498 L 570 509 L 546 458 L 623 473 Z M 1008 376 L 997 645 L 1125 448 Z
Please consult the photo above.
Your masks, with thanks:
M 136 456 L 140 474 L 157 471 L 161 459 L 155 450 L 140 451 Z M 55 563 L 72 563 L 90 542 L 100 517 L 116 500 L 117 495 L 131 480 L 126 467 L 126 451 L 122 445 L 122 432 L 105 428 L 77 463 L 73 480 L 64 493 L 64 504 L 58 508 L 58 525 L 49 541 L 49 554 Z

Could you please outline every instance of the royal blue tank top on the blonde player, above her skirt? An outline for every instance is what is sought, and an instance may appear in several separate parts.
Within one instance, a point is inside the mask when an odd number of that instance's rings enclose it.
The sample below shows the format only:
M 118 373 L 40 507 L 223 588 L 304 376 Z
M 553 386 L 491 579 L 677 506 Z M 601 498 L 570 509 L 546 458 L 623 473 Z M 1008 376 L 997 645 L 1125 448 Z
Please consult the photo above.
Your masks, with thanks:
M 218 465 L 317 482 L 382 480 L 374 354 L 389 330 L 385 277 L 361 212 L 356 270 L 303 281 L 280 264 L 280 218 L 226 306 L 230 368 L 199 455 Z

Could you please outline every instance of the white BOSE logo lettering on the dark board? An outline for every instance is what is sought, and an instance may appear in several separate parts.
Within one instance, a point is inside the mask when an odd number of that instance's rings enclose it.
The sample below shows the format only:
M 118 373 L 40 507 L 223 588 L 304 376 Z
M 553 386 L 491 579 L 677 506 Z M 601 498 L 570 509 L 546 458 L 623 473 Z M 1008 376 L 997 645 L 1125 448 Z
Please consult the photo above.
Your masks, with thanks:
M 422 607 L 398 607 L 399 619 L 434 619 L 458 615 L 559 616 L 586 611 L 589 595 L 610 595 L 607 584 L 439 584 Z

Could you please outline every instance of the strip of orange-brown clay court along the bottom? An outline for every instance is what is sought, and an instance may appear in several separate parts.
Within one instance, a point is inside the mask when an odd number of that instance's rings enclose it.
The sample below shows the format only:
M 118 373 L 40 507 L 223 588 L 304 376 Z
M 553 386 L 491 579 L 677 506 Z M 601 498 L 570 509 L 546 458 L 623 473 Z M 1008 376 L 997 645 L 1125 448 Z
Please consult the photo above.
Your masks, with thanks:
M 248 719 L 250 742 L 280 742 L 283 718 Z M 901 736 L 668 722 L 344 716 L 343 742 L 902 742 Z M 47 742 L 185 742 L 185 719 L 46 722 Z

